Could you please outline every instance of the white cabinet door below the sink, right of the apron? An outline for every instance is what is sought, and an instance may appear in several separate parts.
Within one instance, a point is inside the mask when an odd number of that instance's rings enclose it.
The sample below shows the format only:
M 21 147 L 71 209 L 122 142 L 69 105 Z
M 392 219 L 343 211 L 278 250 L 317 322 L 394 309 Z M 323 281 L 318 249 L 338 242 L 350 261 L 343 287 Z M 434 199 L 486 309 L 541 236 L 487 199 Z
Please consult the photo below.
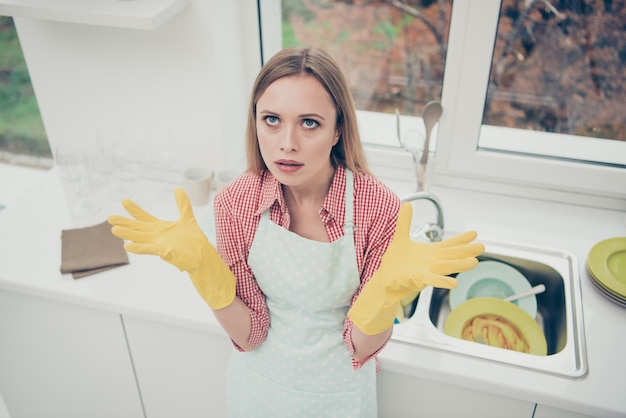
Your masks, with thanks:
M 535 404 L 382 370 L 380 417 L 530 418 Z

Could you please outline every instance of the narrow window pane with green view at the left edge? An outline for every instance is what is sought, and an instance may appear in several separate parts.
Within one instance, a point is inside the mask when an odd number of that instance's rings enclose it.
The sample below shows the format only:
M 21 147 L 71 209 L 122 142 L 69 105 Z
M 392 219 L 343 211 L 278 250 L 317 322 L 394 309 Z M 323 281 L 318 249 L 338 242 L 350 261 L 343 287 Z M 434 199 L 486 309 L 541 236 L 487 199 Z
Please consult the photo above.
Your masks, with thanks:
M 0 16 L 0 163 L 50 168 L 52 153 L 13 18 Z

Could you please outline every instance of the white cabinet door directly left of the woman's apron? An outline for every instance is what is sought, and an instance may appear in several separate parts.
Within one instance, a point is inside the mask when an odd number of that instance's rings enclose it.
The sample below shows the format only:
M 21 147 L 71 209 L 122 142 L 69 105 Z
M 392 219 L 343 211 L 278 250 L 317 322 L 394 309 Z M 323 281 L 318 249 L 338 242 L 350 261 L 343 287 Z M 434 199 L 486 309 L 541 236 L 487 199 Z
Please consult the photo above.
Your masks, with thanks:
M 226 416 L 226 365 L 234 349 L 225 334 L 127 315 L 124 324 L 149 418 Z

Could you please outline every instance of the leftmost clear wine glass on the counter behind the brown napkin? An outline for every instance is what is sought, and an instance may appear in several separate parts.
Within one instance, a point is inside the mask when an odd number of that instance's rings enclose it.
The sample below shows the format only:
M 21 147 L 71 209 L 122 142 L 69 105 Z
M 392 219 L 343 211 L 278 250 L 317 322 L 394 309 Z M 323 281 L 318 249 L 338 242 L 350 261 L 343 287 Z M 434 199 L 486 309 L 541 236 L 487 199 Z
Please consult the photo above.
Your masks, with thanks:
M 61 177 L 73 184 L 78 197 L 78 203 L 74 205 L 72 212 L 79 217 L 97 213 L 100 205 L 89 199 L 93 192 L 95 153 L 90 152 L 82 143 L 70 143 L 59 145 L 55 157 Z

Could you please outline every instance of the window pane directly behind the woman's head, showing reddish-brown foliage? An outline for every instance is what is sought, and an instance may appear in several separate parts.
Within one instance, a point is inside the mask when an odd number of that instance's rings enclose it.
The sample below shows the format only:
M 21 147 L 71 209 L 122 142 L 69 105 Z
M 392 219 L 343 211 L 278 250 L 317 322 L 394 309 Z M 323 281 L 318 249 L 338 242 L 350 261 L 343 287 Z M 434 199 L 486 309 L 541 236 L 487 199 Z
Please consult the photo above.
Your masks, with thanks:
M 268 24 L 263 8 L 272 3 L 261 3 Z M 397 147 L 398 139 L 422 134 L 424 105 L 441 99 L 450 0 L 282 0 L 275 7 L 281 40 L 268 42 L 272 29 L 262 23 L 266 60 L 283 47 L 324 48 L 348 78 L 365 142 Z

